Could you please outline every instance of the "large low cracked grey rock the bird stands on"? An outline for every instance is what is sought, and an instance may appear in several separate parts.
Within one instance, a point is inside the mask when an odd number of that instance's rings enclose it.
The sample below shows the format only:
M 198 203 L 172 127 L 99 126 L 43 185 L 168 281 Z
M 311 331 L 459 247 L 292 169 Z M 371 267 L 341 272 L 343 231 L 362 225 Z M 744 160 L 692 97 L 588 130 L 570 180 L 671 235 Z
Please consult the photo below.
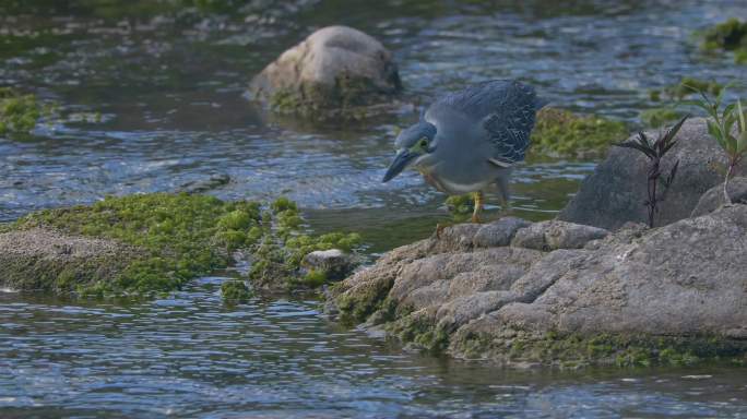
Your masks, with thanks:
M 552 237 L 557 228 L 523 230 Z M 447 228 L 464 239 L 395 249 L 333 287 L 328 307 L 411 346 L 513 366 L 678 363 L 747 351 L 747 205 L 656 229 L 572 229 L 593 234 L 547 252 L 465 247 L 473 230 Z

